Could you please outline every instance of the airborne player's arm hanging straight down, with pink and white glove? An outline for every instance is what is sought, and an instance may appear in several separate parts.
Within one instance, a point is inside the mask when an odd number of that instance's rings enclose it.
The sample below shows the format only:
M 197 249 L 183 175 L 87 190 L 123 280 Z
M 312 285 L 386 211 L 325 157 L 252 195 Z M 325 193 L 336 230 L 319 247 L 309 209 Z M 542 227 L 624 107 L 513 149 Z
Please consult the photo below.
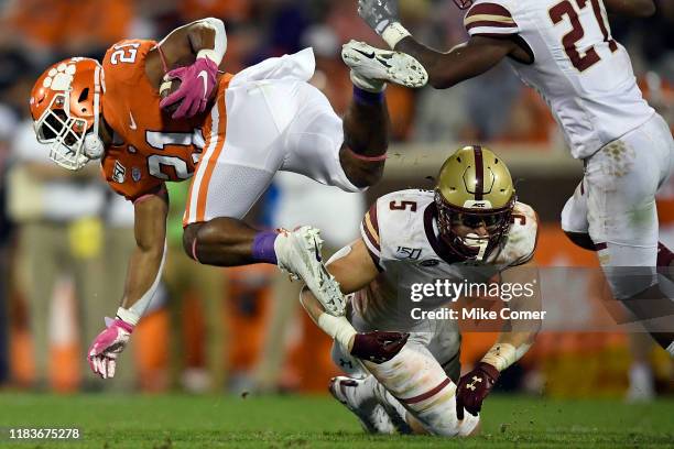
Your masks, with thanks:
M 96 337 L 87 358 L 94 373 L 115 376 L 117 357 L 123 351 L 133 328 L 156 294 L 165 258 L 168 196 L 165 188 L 134 202 L 135 248 L 129 260 L 121 307 L 115 319 Z

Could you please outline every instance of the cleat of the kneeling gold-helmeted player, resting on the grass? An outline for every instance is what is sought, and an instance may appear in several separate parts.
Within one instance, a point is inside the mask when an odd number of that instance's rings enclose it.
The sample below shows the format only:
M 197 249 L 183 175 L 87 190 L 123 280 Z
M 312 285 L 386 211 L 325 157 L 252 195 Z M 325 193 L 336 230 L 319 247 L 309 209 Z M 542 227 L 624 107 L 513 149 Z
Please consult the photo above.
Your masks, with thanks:
M 371 405 L 361 404 L 358 407 L 352 404 L 354 394 L 349 392 L 349 388 L 357 388 L 361 383 L 361 380 L 338 375 L 330 379 L 328 390 L 334 398 L 358 417 L 360 425 L 368 434 L 395 434 L 395 427 L 381 404 L 374 401 L 371 402 Z

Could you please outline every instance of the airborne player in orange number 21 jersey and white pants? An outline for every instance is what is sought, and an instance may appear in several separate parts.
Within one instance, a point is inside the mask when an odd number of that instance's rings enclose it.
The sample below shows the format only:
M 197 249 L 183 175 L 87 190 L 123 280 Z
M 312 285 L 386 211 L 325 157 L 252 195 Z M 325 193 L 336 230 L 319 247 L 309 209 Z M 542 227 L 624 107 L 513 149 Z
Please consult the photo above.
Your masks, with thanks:
M 222 22 L 204 19 L 159 43 L 121 41 L 102 64 L 81 57 L 57 63 L 31 94 L 37 140 L 52 145 L 51 158 L 73 171 L 100 160 L 110 187 L 134 205 L 137 248 L 121 307 L 88 352 L 102 377 L 115 375 L 117 354 L 156 292 L 166 182 L 192 179 L 184 248 L 195 261 L 278 264 L 302 277 L 330 313 L 341 313 L 344 298 L 320 261 L 317 230 L 259 231 L 241 219 L 279 169 L 347 191 L 376 183 L 388 146 L 385 83 L 420 86 L 426 79 L 404 54 L 384 70 L 378 64 L 354 69 L 354 101 L 341 120 L 307 83 L 311 48 L 232 75 L 219 70 L 226 45 Z M 343 56 L 355 52 L 346 45 Z M 163 83 L 170 91 L 180 86 L 161 100 Z

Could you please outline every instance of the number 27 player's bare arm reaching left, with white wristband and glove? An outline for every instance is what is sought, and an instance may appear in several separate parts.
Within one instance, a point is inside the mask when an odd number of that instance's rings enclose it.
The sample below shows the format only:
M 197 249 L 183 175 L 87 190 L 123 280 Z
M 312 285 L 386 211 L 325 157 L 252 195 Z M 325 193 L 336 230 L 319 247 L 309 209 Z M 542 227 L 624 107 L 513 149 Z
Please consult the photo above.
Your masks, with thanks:
M 399 22 L 398 0 L 359 0 L 358 14 L 391 48 L 414 56 L 428 73 L 428 84 L 436 89 L 483 74 L 509 54 L 522 51 L 509 39 L 486 36 L 474 36 L 447 53 L 428 48 Z

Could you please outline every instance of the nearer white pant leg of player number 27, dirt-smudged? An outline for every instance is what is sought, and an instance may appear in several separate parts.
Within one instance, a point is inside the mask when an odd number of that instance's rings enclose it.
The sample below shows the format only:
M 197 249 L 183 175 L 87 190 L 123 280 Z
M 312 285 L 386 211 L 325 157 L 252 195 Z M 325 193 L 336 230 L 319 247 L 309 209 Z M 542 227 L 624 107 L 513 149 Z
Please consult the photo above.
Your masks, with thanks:
M 589 234 L 618 299 L 656 283 L 655 193 L 673 166 L 672 134 L 657 114 L 587 161 Z

